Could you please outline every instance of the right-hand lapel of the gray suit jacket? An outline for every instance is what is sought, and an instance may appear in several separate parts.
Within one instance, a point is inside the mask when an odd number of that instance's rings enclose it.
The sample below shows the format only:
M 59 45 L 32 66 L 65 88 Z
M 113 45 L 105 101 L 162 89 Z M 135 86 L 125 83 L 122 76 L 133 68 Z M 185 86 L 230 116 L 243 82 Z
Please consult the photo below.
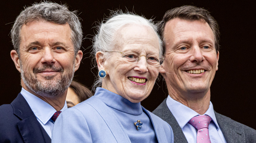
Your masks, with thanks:
M 215 112 L 215 117 L 217 119 L 218 125 L 227 141 L 227 143 L 245 142 L 244 130 L 233 124 L 230 118 L 225 117 L 217 112 Z

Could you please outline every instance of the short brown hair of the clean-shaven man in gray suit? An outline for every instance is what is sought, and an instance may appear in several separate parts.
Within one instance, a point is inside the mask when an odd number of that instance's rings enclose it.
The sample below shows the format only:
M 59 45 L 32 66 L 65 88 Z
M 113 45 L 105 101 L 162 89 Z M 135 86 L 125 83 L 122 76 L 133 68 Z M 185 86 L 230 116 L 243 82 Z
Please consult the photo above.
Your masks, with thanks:
M 181 6 L 178 8 L 173 8 L 168 11 L 163 16 L 163 20 L 158 23 L 158 28 L 160 32 L 161 39 L 163 40 L 163 46 L 165 46 L 164 37 L 163 37 L 163 31 L 165 24 L 174 19 L 174 18 L 180 18 L 183 20 L 203 20 L 204 22 L 208 23 L 211 27 L 214 39 L 215 39 L 215 50 L 218 53 L 220 51 L 220 31 L 219 31 L 219 25 L 217 21 L 210 15 L 210 12 L 207 11 L 204 8 L 197 8 L 195 6 Z M 163 48 L 165 50 L 165 48 Z

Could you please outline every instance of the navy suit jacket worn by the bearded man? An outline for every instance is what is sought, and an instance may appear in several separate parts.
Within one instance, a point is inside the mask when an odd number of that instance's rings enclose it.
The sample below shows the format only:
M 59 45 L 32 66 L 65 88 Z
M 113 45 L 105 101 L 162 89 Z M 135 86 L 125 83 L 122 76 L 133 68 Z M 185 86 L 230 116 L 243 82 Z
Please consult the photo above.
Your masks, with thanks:
M 11 104 L 0 106 L 0 143 L 51 143 L 50 136 L 19 93 Z

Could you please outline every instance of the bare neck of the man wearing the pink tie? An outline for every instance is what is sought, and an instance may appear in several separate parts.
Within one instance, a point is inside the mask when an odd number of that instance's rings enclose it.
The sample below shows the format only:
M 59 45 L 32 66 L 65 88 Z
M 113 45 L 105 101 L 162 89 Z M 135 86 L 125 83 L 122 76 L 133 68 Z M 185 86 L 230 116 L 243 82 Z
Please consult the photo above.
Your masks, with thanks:
M 173 88 L 168 88 L 169 95 L 172 99 L 203 115 L 210 105 L 210 89 L 205 93 L 181 93 L 176 92 Z

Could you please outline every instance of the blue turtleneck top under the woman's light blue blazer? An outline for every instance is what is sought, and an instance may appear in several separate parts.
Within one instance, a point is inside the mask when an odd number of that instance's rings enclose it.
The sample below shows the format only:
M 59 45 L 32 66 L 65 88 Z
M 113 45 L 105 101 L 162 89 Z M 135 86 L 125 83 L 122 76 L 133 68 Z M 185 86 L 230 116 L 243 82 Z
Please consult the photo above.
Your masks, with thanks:
M 97 87 L 95 97 L 99 98 L 116 114 L 131 142 L 158 142 L 151 119 L 143 112 L 140 103 L 132 103 L 107 89 Z M 134 122 L 140 120 L 143 124 L 140 130 Z

